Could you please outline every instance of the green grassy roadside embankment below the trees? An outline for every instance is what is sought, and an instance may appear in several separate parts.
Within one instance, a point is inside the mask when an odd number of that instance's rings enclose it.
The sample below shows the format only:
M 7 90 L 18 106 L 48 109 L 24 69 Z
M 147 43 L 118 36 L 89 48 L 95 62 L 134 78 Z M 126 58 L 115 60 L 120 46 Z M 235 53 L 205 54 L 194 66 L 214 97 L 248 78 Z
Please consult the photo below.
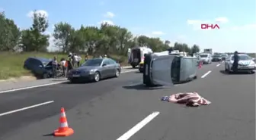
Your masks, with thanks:
M 8 79 L 12 77 L 20 76 L 32 76 L 30 71 L 24 70 L 24 61 L 29 57 L 37 58 L 53 58 L 56 56 L 58 61 L 61 58 L 67 58 L 67 54 L 53 54 L 53 53 L 11 53 L 11 52 L 0 52 L 0 79 Z M 111 55 L 110 58 L 120 61 L 122 66 L 126 64 L 126 56 Z M 82 55 L 82 62 L 85 61 L 85 56 Z

